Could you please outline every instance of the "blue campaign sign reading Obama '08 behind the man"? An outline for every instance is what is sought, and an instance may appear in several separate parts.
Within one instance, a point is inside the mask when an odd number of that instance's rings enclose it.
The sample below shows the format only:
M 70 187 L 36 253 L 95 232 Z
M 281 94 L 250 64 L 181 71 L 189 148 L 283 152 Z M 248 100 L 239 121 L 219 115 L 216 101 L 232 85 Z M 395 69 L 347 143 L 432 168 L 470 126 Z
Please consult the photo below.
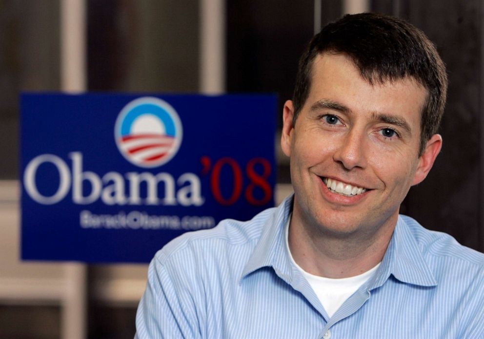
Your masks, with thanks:
M 275 95 L 21 95 L 21 257 L 149 262 L 274 205 Z

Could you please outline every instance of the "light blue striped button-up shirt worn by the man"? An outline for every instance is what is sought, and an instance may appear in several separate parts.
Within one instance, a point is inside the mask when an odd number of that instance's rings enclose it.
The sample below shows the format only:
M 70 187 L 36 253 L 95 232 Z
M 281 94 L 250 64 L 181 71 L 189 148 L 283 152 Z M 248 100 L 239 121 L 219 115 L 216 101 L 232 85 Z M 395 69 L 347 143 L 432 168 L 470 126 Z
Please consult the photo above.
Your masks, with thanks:
M 161 249 L 135 338 L 484 338 L 484 254 L 406 216 L 375 274 L 328 318 L 288 258 L 291 206 L 288 197 Z

